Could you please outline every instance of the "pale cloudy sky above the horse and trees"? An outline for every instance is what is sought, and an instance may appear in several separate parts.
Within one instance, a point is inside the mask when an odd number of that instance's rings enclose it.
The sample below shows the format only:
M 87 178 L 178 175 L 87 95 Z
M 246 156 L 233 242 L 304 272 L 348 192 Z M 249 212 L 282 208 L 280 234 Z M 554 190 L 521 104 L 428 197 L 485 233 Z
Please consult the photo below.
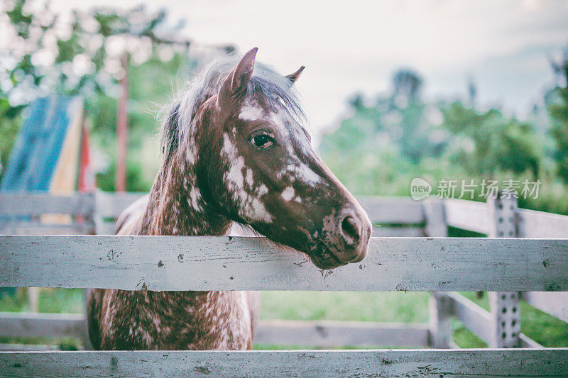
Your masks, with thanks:
M 53 0 L 61 13 L 136 0 Z M 523 116 L 555 82 L 550 58 L 568 44 L 568 1 L 166 0 L 172 21 L 203 45 L 258 46 L 257 59 L 297 82 L 315 133 L 337 126 L 346 99 L 391 89 L 393 72 L 422 75 L 428 99 L 466 96 L 476 83 L 482 106 Z

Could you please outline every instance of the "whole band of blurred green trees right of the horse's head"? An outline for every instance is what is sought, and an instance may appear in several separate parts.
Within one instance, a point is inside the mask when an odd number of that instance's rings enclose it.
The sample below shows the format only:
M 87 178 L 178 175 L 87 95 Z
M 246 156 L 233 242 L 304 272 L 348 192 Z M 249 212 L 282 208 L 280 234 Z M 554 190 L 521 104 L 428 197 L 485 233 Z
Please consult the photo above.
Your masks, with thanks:
M 506 117 L 498 109 L 480 111 L 470 85 L 469 102 L 426 104 L 420 100 L 417 74 L 393 77 L 391 94 L 372 106 L 361 95 L 349 99 L 353 113 L 339 128 L 323 136 L 320 152 L 340 181 L 355 194 L 408 196 L 415 177 L 426 179 L 437 193 L 441 179 L 540 179 L 537 198 L 520 197 L 526 209 L 568 214 L 568 96 L 555 89 L 547 109 L 555 121 L 551 130 L 534 122 Z M 439 117 L 432 116 L 439 115 Z M 439 120 L 437 119 L 439 118 Z M 552 153 L 557 160 L 552 160 Z M 564 170 L 563 170 L 564 169 Z M 474 199 L 481 199 L 479 187 Z M 455 197 L 461 195 L 458 187 Z

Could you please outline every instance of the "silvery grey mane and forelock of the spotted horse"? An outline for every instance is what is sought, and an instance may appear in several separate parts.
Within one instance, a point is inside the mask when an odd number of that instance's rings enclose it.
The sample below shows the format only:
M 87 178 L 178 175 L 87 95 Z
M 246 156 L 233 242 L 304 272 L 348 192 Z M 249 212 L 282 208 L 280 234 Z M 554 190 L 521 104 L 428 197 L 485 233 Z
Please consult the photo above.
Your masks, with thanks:
M 187 135 L 195 135 L 195 114 L 209 97 L 217 94 L 229 73 L 239 63 L 240 57 L 224 57 L 211 62 L 187 84 L 169 106 L 168 116 L 160 132 L 161 150 L 169 160 Z M 246 88 L 247 95 L 262 96 L 268 105 L 283 108 L 299 123 L 305 121 L 300 96 L 283 74 L 273 67 L 256 62 L 253 77 Z

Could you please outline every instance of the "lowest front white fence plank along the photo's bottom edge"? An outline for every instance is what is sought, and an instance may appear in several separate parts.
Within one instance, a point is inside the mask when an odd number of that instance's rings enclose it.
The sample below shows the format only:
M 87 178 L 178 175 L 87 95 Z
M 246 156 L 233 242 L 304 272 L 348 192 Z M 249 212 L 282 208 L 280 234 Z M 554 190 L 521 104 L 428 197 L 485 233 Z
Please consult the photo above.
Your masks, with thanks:
M 18 377 L 559 376 L 568 349 L 2 352 Z

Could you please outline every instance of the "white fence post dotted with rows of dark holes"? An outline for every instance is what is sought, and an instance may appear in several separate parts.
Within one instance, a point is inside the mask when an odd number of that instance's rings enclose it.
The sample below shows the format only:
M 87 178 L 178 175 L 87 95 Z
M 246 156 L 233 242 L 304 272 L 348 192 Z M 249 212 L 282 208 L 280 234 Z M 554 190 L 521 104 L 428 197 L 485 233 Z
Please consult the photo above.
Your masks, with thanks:
M 517 199 L 515 196 L 498 194 L 496 198 L 487 199 L 489 212 L 490 238 L 516 238 L 517 226 L 515 213 Z M 491 343 L 490 348 L 518 348 L 520 346 L 520 308 L 519 295 L 516 291 L 491 291 L 489 305 L 491 307 Z

